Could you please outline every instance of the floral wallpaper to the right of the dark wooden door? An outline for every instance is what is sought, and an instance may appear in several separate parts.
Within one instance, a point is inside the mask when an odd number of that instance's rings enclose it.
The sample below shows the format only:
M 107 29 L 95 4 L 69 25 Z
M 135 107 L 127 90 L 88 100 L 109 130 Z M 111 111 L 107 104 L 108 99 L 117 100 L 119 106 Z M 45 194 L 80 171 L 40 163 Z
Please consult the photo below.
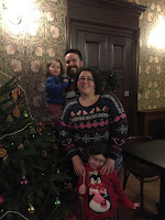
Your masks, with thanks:
M 148 45 L 147 40 L 151 31 L 157 25 L 158 15 L 165 19 L 165 1 L 128 1 L 147 7 L 140 16 L 139 110 L 163 109 L 165 108 L 165 50 Z

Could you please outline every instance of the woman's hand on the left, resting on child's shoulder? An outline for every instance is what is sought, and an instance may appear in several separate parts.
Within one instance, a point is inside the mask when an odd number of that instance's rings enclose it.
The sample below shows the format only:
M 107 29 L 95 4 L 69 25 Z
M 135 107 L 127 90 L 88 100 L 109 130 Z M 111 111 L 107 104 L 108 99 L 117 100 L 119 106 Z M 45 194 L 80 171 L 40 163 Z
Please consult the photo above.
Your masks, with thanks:
M 85 169 L 85 166 L 84 166 L 81 158 L 78 155 L 76 155 L 72 158 L 72 161 L 73 161 L 73 165 L 74 165 L 74 169 L 75 169 L 76 175 L 82 176 L 84 173 L 86 173 L 86 169 Z

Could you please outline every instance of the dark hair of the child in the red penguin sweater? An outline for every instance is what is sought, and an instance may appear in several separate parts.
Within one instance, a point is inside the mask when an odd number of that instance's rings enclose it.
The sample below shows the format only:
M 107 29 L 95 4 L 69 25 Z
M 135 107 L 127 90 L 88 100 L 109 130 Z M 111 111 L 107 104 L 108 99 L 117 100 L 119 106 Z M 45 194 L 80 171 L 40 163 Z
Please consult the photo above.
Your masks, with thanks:
M 88 154 L 89 156 L 102 154 L 106 158 L 108 158 L 110 156 L 109 145 L 110 145 L 109 141 L 94 142 L 88 148 Z

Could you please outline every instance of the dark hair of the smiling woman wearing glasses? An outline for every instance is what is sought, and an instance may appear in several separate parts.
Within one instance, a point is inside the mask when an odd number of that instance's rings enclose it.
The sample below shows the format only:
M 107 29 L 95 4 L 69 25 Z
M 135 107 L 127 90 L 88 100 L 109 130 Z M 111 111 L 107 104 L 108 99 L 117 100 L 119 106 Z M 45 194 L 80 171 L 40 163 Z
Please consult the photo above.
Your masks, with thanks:
M 79 78 L 79 75 L 81 74 L 81 72 L 90 72 L 91 76 L 94 78 L 94 82 L 95 82 L 95 94 L 96 95 L 100 95 L 102 94 L 102 77 L 100 72 L 97 69 L 97 67 L 85 67 L 85 68 L 80 68 L 79 72 L 77 73 L 77 76 L 75 78 L 75 92 L 79 94 L 78 87 L 77 87 L 77 81 Z

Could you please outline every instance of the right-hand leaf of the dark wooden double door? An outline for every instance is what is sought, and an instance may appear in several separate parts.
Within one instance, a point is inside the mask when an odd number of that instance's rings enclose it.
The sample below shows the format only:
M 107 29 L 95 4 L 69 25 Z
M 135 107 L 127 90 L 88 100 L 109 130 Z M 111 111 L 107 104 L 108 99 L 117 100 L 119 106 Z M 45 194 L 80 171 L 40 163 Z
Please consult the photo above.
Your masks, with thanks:
M 123 105 L 123 108 L 127 112 L 127 117 L 129 120 L 129 132 L 131 129 L 131 116 L 132 111 L 134 111 L 132 107 L 132 95 L 133 91 L 131 91 L 131 66 L 132 66 L 132 38 L 125 36 L 108 36 L 107 40 L 107 57 L 109 59 L 108 62 L 108 68 L 112 69 L 114 75 L 118 79 L 118 89 L 117 89 L 117 97 Z M 132 88 L 134 89 L 134 88 Z M 136 100 L 134 99 L 134 102 Z

